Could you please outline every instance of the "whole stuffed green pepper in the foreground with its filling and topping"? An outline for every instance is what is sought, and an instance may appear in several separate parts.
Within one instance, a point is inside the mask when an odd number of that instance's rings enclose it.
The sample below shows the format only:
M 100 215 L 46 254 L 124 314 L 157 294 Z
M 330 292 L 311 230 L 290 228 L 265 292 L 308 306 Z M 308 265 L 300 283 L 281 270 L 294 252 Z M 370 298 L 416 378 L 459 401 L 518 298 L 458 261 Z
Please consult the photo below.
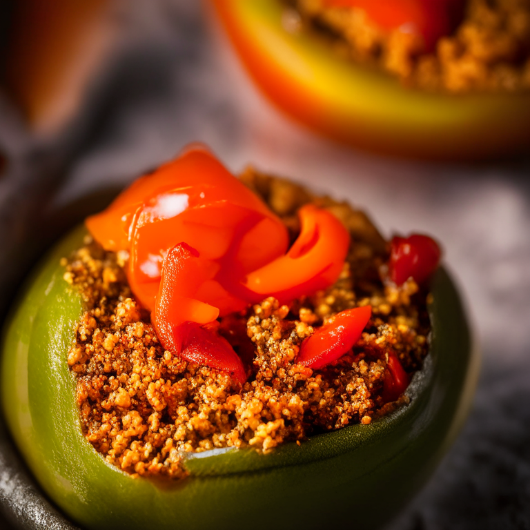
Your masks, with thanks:
M 81 527 L 375 528 L 455 438 L 477 356 L 430 237 L 387 243 L 197 148 L 87 226 L 30 279 L 1 360 L 14 440 Z

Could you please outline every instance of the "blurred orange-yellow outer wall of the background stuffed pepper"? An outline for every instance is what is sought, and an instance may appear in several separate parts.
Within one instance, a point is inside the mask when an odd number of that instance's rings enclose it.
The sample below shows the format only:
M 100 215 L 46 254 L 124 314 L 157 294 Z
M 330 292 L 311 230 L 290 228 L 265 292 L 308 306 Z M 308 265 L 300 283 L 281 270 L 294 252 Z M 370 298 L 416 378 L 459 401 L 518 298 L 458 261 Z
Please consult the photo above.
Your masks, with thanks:
M 530 94 L 449 95 L 406 88 L 283 26 L 279 0 L 212 0 L 264 95 L 286 115 L 346 144 L 424 159 L 481 160 L 530 147 Z

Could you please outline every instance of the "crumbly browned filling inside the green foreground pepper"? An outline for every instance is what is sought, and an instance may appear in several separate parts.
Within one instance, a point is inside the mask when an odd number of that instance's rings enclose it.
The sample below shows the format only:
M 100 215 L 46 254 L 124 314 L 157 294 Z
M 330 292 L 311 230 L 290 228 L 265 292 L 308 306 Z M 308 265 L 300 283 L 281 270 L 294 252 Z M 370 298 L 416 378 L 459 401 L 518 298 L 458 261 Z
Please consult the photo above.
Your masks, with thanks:
M 109 253 L 86 238 L 63 259 L 65 279 L 87 310 L 77 324 L 68 364 L 86 439 L 110 464 L 135 475 L 186 475 L 187 452 L 251 446 L 262 451 L 361 422 L 408 402 L 384 403 L 385 351 L 409 373 L 427 351 L 425 293 L 412 281 L 385 285 L 384 239 L 360 211 L 248 169 L 242 180 L 297 235 L 297 208 L 313 202 L 349 228 L 353 244 L 336 284 L 279 306 L 268 298 L 220 322 L 222 333 L 251 366 L 240 389 L 226 373 L 195 366 L 159 344 L 149 315 L 126 282 L 126 253 Z M 346 308 L 371 304 L 372 318 L 353 352 L 313 371 L 296 364 L 313 326 Z

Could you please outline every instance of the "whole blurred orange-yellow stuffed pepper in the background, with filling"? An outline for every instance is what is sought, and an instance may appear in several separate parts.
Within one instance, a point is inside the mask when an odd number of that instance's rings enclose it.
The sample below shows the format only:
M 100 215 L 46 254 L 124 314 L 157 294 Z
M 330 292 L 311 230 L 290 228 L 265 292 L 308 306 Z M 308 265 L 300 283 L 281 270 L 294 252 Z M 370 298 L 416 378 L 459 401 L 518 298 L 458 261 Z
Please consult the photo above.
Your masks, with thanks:
M 266 96 L 340 141 L 406 157 L 530 146 L 530 6 L 497 0 L 213 0 Z

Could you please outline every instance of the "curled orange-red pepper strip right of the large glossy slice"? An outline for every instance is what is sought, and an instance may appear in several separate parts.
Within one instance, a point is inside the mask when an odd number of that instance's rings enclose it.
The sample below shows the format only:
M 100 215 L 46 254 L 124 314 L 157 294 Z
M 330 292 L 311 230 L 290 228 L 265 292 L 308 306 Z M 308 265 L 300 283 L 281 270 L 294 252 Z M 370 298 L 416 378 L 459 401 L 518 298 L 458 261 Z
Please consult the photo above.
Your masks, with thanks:
M 251 302 L 274 296 L 280 303 L 310 295 L 335 282 L 348 253 L 348 230 L 331 213 L 300 208 L 301 233 L 286 255 L 253 271 L 243 282 Z

